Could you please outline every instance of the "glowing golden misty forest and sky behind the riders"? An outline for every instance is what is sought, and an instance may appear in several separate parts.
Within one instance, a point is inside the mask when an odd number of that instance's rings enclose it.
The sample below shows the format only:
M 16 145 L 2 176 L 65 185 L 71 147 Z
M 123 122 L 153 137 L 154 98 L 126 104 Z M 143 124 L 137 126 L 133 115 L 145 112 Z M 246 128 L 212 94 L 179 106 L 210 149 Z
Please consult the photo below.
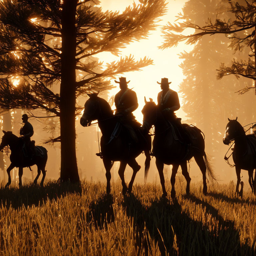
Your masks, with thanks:
M 136 1 L 135 1 L 136 2 Z M 125 7 L 131 5 L 133 1 L 124 0 L 107 0 L 102 1 L 99 5 L 103 10 L 112 10 L 122 12 Z M 162 21 L 159 25 L 165 25 L 167 21 L 173 23 L 176 15 L 179 12 L 184 14 L 184 17 L 190 19 L 191 23 L 204 24 L 208 18 L 214 22 L 216 18 L 232 18 L 232 13 L 226 12 L 224 8 L 225 1 L 221 0 L 202 0 L 202 1 L 169 1 L 166 15 L 161 17 Z M 187 30 L 187 34 L 193 33 L 193 30 Z M 236 52 L 228 48 L 230 40 L 225 35 L 217 35 L 214 37 L 204 36 L 195 45 L 185 45 L 184 42 L 179 43 L 175 48 L 159 50 L 163 38 L 161 37 L 161 27 L 152 32 L 149 39 L 134 42 L 125 48 L 121 55 L 134 55 L 136 59 L 149 56 L 154 60 L 154 65 L 150 65 L 142 69 L 142 71 L 128 72 L 124 76 L 131 80 L 129 87 L 134 87 L 139 100 L 139 108 L 135 111 L 136 118 L 142 122 L 141 109 L 144 103 L 144 96 L 153 98 L 156 101 L 157 93 L 160 91 L 156 81 L 160 81 L 162 77 L 168 77 L 172 81 L 171 88 L 179 92 L 181 101 L 181 110 L 177 111 L 177 115 L 182 118 L 183 122 L 197 125 L 206 136 L 206 152 L 212 157 L 212 164 L 215 172 L 219 175 L 222 182 L 229 182 L 236 178 L 235 170 L 230 168 L 224 162 L 224 155 L 227 151 L 227 146 L 222 143 L 222 137 L 225 132 L 227 118 L 235 118 L 238 116 L 238 121 L 242 124 L 251 123 L 255 116 L 255 100 L 254 91 L 251 90 L 243 95 L 235 93 L 239 89 L 251 86 L 251 80 L 240 78 L 237 80 L 234 76 L 224 77 L 221 80 L 216 79 L 217 71 L 220 63 L 228 65 L 233 58 L 248 59 L 247 50 Z M 112 62 L 116 56 L 110 53 L 102 53 L 95 58 Z M 18 77 L 13 77 L 13 83 L 19 83 Z M 114 80 L 111 80 L 114 84 Z M 117 91 L 118 87 L 110 91 L 105 91 L 100 96 L 105 99 L 110 99 Z M 82 99 L 86 100 L 86 98 Z M 81 103 L 82 105 L 83 103 Z M 1 116 L 2 129 L 12 130 L 18 134 L 21 127 L 21 115 L 27 113 L 26 110 L 13 109 L 7 114 Z M 34 112 L 34 115 L 40 113 Z M 48 120 L 31 118 L 29 120 L 34 126 L 35 134 L 33 139 L 36 143 L 42 143 L 49 136 L 56 137 L 58 128 L 46 129 L 46 125 L 55 127 L 54 119 Z M 87 180 L 102 180 L 105 181 L 105 170 L 102 160 L 95 155 L 98 152 L 97 127 L 83 128 L 76 123 L 77 131 L 77 161 L 79 176 Z M 99 137 L 101 135 L 99 134 Z M 57 179 L 59 177 L 60 168 L 60 148 L 58 144 L 54 147 L 47 146 L 49 160 L 47 163 L 47 178 Z M 143 165 L 144 155 L 138 158 L 139 164 Z M 149 182 L 159 182 L 159 176 L 155 167 L 155 159 L 153 158 L 150 172 Z M 0 155 L 0 179 L 6 178 L 6 165 L 8 166 L 9 159 L 7 156 Z M 33 168 L 32 168 L 33 169 Z M 112 169 L 112 179 L 118 179 L 117 174 L 118 163 L 114 164 Z M 169 179 L 169 166 L 165 167 L 165 176 Z M 196 165 L 191 163 L 190 176 L 192 181 L 201 180 L 200 170 Z M 15 180 L 17 170 L 14 169 L 12 179 Z M 131 169 L 127 168 L 126 178 L 130 178 Z M 33 172 L 29 169 L 24 170 L 24 179 L 31 179 Z M 135 179 L 135 182 L 143 182 L 143 171 L 140 171 Z

